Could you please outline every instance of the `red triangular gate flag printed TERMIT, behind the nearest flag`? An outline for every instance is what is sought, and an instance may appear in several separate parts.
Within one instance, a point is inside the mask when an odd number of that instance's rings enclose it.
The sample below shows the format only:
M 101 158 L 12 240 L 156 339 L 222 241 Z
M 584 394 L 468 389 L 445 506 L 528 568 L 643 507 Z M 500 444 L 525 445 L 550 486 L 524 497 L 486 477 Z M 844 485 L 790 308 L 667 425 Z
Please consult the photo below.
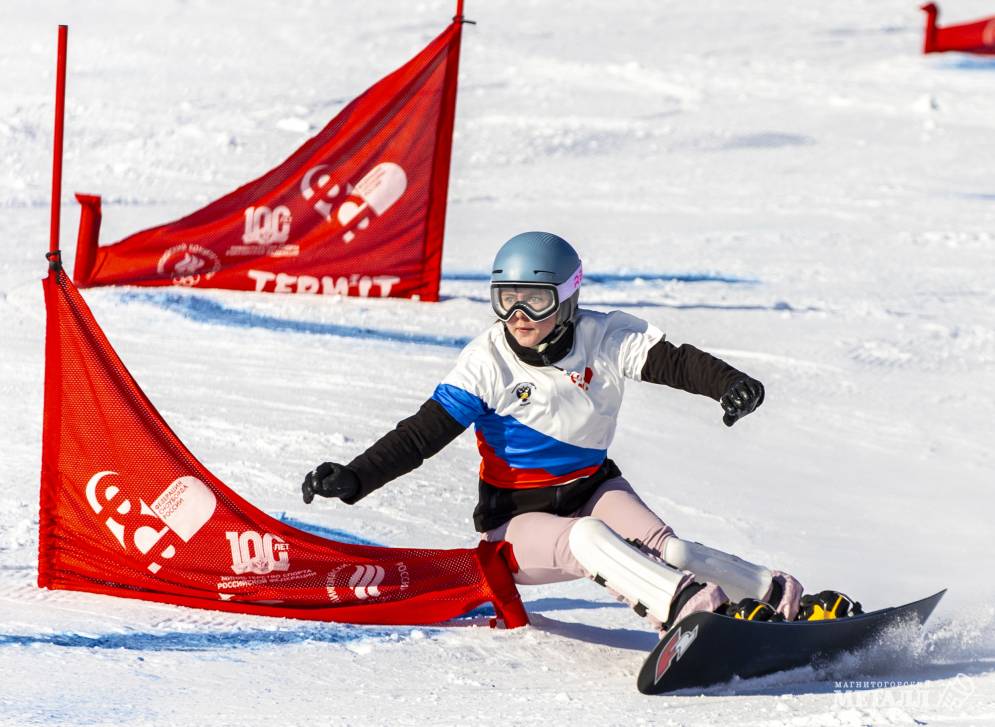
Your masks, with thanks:
M 74 280 L 439 299 L 462 17 L 259 179 L 98 247 L 82 204 Z

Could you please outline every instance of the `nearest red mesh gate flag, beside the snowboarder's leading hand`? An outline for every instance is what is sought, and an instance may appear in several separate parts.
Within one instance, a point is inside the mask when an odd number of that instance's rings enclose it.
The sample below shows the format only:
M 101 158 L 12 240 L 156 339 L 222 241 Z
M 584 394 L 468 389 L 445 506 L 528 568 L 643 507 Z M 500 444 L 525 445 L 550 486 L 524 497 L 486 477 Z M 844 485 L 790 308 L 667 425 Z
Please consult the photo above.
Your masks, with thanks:
M 187 450 L 68 276 L 44 281 L 38 585 L 268 616 L 444 621 L 491 601 L 528 623 L 511 546 L 381 548 L 290 527 Z

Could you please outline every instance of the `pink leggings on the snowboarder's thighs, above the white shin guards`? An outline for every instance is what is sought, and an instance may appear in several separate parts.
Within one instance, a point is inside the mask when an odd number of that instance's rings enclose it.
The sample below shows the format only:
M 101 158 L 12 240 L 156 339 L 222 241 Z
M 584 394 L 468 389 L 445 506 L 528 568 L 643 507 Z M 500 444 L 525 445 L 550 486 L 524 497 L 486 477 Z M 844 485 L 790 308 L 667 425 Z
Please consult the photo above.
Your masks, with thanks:
M 623 477 L 607 480 L 580 510 L 569 517 L 545 512 L 516 515 L 488 530 L 484 540 L 507 540 L 518 561 L 515 582 L 524 586 L 585 578 L 588 573 L 570 552 L 570 528 L 585 516 L 596 517 L 627 539 L 638 539 L 643 550 L 660 557 L 664 541 L 674 534 L 646 507 Z

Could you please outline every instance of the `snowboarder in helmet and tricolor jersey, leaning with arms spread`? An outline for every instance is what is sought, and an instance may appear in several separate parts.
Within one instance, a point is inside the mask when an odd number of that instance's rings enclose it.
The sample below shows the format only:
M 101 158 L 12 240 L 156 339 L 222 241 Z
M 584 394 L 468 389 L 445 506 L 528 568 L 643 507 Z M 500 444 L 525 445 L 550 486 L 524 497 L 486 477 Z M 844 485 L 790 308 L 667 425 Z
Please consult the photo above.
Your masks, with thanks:
M 763 385 L 635 316 L 579 308 L 582 278 L 557 235 L 508 240 L 491 272 L 499 321 L 416 414 L 349 464 L 309 472 L 304 502 L 355 504 L 473 424 L 483 459 L 474 525 L 511 543 L 517 583 L 589 577 L 661 631 L 696 611 L 794 619 L 795 578 L 678 538 L 607 456 L 626 378 L 711 397 L 730 427 L 763 403 Z

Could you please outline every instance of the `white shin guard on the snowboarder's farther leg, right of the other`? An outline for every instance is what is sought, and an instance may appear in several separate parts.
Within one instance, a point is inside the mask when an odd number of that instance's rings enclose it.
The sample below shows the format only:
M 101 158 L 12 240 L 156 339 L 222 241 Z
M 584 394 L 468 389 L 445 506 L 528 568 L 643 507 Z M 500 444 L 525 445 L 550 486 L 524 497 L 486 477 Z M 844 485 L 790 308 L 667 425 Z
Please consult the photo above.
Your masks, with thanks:
M 773 573 L 769 568 L 701 543 L 667 538 L 661 555 L 675 568 L 694 573 L 699 581 L 718 583 L 733 601 L 764 598 L 770 590 Z

